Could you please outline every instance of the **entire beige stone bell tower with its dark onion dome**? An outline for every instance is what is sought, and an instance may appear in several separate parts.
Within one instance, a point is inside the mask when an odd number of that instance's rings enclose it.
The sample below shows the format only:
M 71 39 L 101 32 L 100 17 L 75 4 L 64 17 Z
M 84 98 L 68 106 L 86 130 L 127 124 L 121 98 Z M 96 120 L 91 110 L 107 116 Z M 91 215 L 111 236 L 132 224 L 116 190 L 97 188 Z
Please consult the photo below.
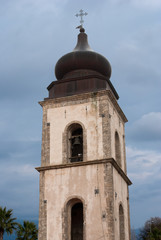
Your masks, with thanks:
M 80 28 L 43 108 L 39 240 L 130 240 L 126 116 L 111 66 Z

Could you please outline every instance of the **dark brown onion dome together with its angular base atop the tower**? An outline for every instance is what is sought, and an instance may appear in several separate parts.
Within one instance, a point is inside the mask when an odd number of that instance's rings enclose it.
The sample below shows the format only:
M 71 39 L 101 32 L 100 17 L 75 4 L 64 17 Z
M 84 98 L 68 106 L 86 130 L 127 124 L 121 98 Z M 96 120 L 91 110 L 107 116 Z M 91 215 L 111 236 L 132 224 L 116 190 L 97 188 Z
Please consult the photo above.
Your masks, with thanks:
M 56 63 L 55 75 L 57 81 L 53 81 L 47 87 L 49 98 L 95 93 L 102 90 L 110 90 L 116 99 L 119 98 L 110 81 L 110 63 L 90 48 L 87 34 L 82 26 L 76 47 Z

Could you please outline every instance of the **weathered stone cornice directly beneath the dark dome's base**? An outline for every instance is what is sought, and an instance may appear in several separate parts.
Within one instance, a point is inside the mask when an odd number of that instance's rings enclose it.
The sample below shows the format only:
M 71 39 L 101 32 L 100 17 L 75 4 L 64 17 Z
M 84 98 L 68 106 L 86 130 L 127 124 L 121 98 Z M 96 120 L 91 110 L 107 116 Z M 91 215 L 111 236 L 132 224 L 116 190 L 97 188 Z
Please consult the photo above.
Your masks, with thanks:
M 112 92 L 110 90 L 102 90 L 102 91 L 98 91 L 98 92 L 94 92 L 94 93 L 82 93 L 82 94 L 78 94 L 78 95 L 72 95 L 72 96 L 67 96 L 67 97 L 61 97 L 61 98 L 45 98 L 44 101 L 39 102 L 39 104 L 42 107 L 45 106 L 50 106 L 51 105 L 56 105 L 57 104 L 63 104 L 63 106 L 67 106 L 67 105 L 72 105 L 72 104 L 79 104 L 81 100 L 83 101 L 87 101 L 88 99 L 92 99 L 92 97 L 95 96 L 97 97 L 102 97 L 102 96 L 108 96 L 109 99 L 111 100 L 112 104 L 115 106 L 118 114 L 121 116 L 123 122 L 127 122 L 127 118 L 125 116 L 125 114 L 123 113 L 122 109 L 120 108 L 116 98 L 114 97 L 114 95 L 112 94 Z M 88 100 L 89 101 L 89 100 Z

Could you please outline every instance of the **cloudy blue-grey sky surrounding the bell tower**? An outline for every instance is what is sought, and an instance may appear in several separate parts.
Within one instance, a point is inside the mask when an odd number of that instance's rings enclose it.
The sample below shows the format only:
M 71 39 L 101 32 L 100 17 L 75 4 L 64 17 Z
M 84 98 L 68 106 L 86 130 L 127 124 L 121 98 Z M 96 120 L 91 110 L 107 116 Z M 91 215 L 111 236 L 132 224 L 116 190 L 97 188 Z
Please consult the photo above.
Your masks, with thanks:
M 129 122 L 131 226 L 161 217 L 161 1 L 0 0 L 0 205 L 38 219 L 42 109 L 57 60 L 76 45 L 79 19 L 112 65 Z

